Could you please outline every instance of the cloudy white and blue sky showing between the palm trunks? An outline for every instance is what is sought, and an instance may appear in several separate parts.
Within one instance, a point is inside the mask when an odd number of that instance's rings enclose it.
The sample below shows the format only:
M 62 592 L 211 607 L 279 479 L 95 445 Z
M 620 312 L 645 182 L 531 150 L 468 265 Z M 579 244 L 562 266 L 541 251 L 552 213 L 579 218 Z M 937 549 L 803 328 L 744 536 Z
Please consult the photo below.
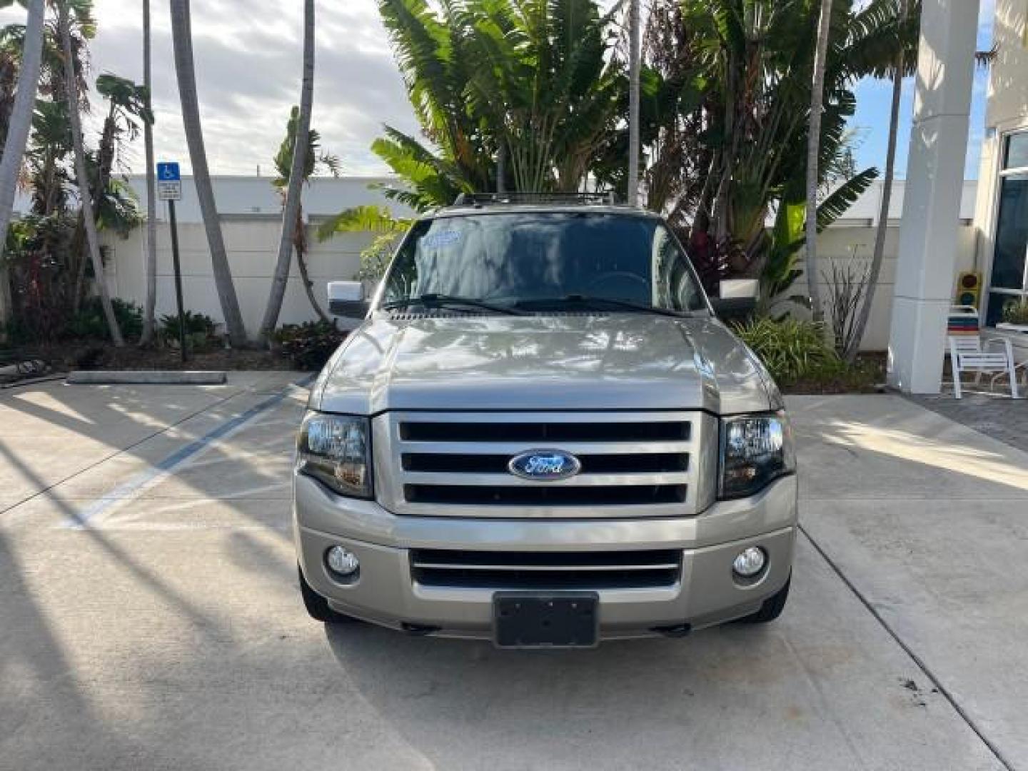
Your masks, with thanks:
M 192 0 L 191 6 L 197 90 L 211 171 L 270 175 L 290 107 L 299 100 L 302 0 Z M 142 4 L 96 0 L 95 9 L 98 34 L 90 46 L 93 78 L 113 72 L 142 82 Z M 994 0 L 982 0 L 980 49 L 990 45 L 993 9 Z M 156 154 L 158 159 L 179 160 L 188 173 L 168 0 L 151 0 L 151 11 Z M 387 168 L 369 149 L 382 124 L 416 133 L 417 123 L 393 63 L 376 0 L 323 1 L 317 12 L 311 125 L 321 133 L 323 148 L 339 156 L 344 174 L 383 174 Z M 24 17 L 25 11 L 17 6 L 0 10 L 0 25 Z M 979 71 L 967 149 L 968 178 L 978 176 L 986 82 L 987 74 Z M 901 177 L 907 166 L 911 86 L 908 82 L 903 101 L 896 158 Z M 884 169 L 890 87 L 886 81 L 873 80 L 857 85 L 852 125 L 859 168 Z M 95 127 L 98 124 L 99 119 L 94 121 Z M 124 161 L 141 172 L 142 158 L 140 140 L 128 148 Z

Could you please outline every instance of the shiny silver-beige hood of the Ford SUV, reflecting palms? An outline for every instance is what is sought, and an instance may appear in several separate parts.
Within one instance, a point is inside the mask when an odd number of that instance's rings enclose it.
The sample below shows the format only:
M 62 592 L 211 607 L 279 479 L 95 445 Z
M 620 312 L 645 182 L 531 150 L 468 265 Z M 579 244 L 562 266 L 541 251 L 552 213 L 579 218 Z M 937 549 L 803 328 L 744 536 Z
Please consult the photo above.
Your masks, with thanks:
M 365 322 L 326 365 L 310 406 L 400 409 L 775 407 L 777 390 L 721 322 L 637 313 L 409 316 Z

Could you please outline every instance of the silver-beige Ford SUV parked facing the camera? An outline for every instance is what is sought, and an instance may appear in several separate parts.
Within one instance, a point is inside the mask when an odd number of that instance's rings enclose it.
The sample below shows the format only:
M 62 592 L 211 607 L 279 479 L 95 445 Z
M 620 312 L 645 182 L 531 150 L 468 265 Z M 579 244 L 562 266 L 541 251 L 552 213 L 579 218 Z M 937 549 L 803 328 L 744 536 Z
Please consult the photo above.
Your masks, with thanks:
M 796 462 L 781 395 L 656 215 L 475 196 L 419 219 L 297 441 L 320 621 L 511 648 L 771 621 Z

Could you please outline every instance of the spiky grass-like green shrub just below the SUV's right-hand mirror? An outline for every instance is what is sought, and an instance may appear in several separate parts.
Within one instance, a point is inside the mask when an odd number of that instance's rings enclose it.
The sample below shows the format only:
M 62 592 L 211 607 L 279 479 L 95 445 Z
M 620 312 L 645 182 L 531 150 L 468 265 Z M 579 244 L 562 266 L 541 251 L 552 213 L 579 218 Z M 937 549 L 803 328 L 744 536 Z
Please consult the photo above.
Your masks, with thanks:
M 842 366 L 820 324 L 763 318 L 737 326 L 735 333 L 780 382 L 823 376 Z

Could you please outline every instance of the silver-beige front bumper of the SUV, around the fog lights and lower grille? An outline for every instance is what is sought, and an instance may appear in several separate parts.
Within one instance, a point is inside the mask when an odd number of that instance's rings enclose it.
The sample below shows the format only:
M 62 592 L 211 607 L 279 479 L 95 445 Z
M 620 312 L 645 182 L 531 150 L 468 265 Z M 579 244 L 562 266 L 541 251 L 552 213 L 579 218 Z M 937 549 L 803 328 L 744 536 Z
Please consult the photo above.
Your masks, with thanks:
M 796 493 L 796 477 L 790 476 L 750 499 L 721 502 L 681 519 L 457 519 L 396 516 L 299 475 L 293 522 L 303 575 L 332 608 L 397 629 L 429 627 L 454 637 L 491 637 L 493 590 L 423 586 L 411 575 L 410 549 L 682 549 L 673 586 L 599 590 L 600 638 L 611 639 L 685 624 L 698 629 L 757 611 L 792 572 Z M 325 552 L 335 544 L 361 561 L 350 584 L 325 566 Z M 759 581 L 743 586 L 732 578 L 732 560 L 751 545 L 763 547 L 769 561 Z

